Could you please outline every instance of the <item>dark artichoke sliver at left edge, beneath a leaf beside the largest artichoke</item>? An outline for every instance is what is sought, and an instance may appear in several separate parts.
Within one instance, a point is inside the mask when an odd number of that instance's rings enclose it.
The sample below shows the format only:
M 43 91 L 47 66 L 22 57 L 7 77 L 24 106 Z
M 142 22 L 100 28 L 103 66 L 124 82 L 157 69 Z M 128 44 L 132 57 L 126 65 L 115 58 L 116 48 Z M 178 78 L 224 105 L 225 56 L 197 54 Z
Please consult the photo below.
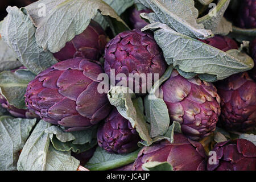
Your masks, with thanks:
M 10 105 L 9 102 L 0 94 L 0 104 L 3 108 L 7 109 L 11 115 L 13 115 L 16 118 L 38 118 L 38 115 L 36 115 L 33 111 L 28 109 L 18 109 L 14 107 L 13 105 Z

